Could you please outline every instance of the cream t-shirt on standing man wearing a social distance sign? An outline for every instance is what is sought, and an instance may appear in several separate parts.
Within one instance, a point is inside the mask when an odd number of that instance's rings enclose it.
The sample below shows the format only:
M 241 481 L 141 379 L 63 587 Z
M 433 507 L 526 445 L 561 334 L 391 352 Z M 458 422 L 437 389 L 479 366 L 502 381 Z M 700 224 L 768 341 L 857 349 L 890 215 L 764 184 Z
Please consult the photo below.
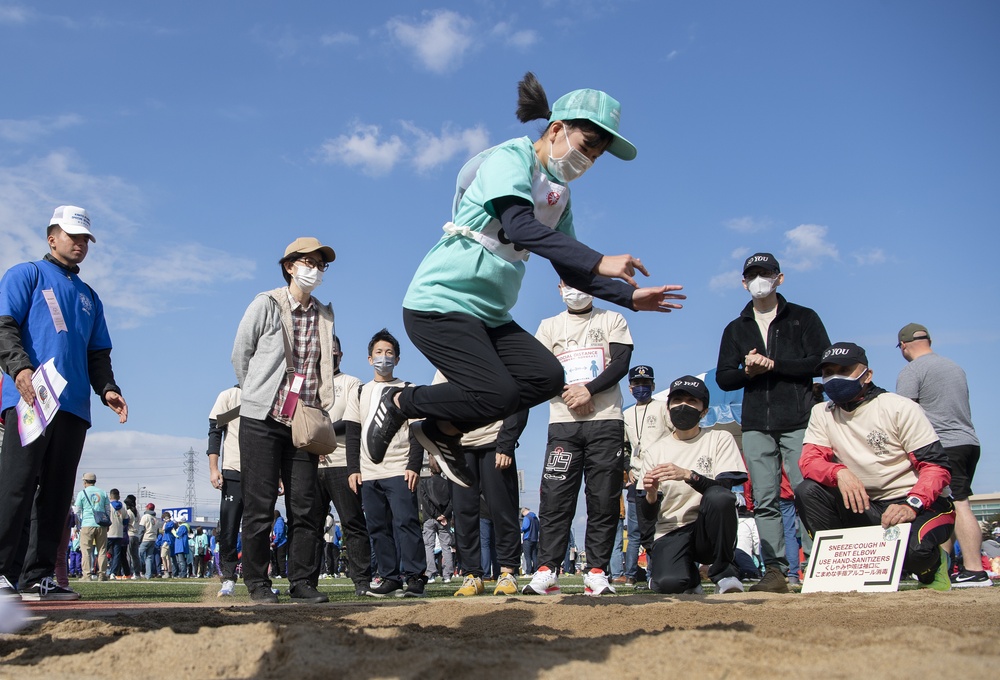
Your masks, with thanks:
M 567 384 L 586 384 L 603 373 L 611 363 L 611 343 L 633 344 L 625 317 L 596 307 L 588 314 L 565 311 L 543 319 L 535 338 L 562 363 Z M 622 393 L 618 385 L 593 395 L 592 403 L 593 413 L 578 416 L 561 396 L 554 397 L 549 401 L 549 422 L 622 419 Z

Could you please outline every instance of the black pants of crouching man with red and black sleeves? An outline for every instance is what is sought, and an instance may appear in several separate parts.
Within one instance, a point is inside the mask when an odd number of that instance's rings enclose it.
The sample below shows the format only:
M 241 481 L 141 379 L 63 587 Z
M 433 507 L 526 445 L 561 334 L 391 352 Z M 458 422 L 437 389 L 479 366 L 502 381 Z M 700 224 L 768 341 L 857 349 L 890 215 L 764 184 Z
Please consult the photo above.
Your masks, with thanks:
M 882 523 L 882 513 L 890 505 L 905 503 L 906 497 L 869 501 L 868 510 L 857 513 L 844 507 L 840 490 L 806 479 L 795 489 L 795 507 L 810 535 L 826 529 L 870 527 Z M 955 529 L 955 504 L 939 496 L 930 507 L 917 513 L 910 524 L 903 569 L 930 583 L 941 565 L 939 546 L 951 538 Z

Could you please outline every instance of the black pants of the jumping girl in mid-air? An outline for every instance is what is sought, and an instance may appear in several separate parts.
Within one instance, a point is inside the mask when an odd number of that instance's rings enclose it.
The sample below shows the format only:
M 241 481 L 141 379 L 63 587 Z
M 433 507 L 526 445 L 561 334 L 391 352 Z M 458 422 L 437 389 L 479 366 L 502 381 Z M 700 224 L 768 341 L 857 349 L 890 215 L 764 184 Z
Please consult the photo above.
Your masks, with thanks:
M 562 391 L 559 360 L 513 321 L 490 328 L 469 314 L 403 309 L 403 324 L 417 349 L 448 379 L 405 388 L 399 405 L 409 418 L 451 421 L 469 432 Z

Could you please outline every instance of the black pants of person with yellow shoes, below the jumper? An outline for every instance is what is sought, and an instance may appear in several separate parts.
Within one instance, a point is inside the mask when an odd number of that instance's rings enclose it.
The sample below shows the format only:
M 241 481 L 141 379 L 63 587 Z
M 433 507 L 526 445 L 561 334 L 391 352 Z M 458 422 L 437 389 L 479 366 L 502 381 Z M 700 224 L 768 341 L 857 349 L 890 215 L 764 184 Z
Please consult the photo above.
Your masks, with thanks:
M 451 486 L 458 559 L 466 574 L 483 577 L 482 543 L 479 535 L 480 494 L 493 520 L 497 561 L 516 574 L 521 566 L 521 526 L 518 518 L 517 464 L 506 470 L 496 467 L 496 446 L 465 449 L 465 464 L 472 471 L 472 484 Z

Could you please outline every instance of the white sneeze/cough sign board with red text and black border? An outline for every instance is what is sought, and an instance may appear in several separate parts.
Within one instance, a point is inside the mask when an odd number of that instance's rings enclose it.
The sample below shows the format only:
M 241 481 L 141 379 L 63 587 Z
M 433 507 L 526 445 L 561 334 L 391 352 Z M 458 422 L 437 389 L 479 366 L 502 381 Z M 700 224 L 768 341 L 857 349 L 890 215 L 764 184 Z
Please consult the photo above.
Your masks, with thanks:
M 909 536 L 909 524 L 817 531 L 802 592 L 898 590 Z

